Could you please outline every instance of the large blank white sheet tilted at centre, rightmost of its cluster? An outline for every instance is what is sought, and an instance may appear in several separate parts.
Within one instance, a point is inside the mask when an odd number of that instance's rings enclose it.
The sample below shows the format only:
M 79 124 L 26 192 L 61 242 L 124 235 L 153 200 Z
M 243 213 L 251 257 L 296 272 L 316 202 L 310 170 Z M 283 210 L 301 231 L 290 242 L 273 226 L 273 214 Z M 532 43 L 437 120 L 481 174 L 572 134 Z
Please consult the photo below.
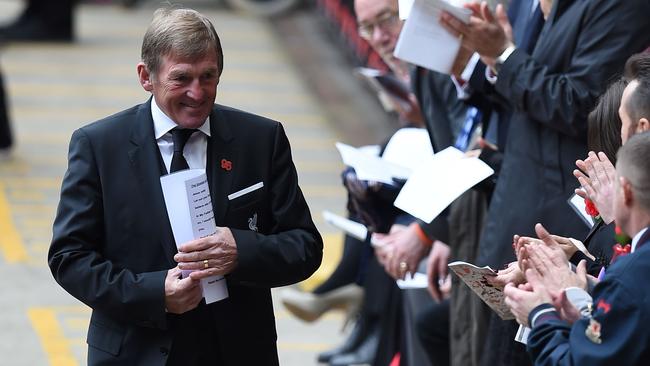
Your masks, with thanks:
M 449 204 L 494 170 L 478 158 L 468 158 L 448 147 L 418 168 L 402 187 L 395 207 L 425 222 L 435 219 Z

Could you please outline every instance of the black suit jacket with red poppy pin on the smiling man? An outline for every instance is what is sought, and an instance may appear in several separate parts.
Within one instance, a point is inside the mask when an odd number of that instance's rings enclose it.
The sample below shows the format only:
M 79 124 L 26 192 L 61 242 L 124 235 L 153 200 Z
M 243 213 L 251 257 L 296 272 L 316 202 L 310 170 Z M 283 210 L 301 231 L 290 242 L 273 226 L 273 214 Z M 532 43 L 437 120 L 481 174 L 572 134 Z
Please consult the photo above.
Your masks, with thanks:
M 238 265 L 229 298 L 206 306 L 223 365 L 276 365 L 270 288 L 320 265 L 322 240 L 298 187 L 282 126 L 223 106 L 210 116 L 207 174 L 218 226 L 231 228 Z M 221 168 L 221 160 L 232 170 Z M 93 309 L 91 365 L 164 365 L 173 329 L 164 280 L 176 253 L 159 182 L 161 157 L 150 103 L 80 128 L 48 254 L 57 282 Z M 232 201 L 227 195 L 264 187 Z M 259 232 L 249 230 L 257 214 Z

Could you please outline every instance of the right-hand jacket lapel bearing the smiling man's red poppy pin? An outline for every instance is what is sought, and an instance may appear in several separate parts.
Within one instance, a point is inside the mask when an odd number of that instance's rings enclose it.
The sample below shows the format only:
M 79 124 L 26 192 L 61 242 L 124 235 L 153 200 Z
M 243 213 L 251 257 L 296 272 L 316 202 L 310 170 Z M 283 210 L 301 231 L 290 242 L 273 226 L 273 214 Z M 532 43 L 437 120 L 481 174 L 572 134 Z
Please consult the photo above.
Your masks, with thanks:
M 233 147 L 233 135 L 221 107 L 215 106 L 210 115 L 210 134 L 206 173 L 217 225 L 224 225 L 228 210 L 228 195 L 232 193 L 234 175 L 239 166 L 238 151 Z

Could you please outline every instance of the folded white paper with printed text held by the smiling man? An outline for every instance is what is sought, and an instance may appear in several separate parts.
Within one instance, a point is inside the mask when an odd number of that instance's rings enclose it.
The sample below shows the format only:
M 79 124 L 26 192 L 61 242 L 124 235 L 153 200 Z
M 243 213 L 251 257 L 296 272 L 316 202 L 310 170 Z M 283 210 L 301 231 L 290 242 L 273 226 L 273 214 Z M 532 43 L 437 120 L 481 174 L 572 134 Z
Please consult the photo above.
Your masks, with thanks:
M 216 233 L 217 226 L 204 169 L 182 170 L 162 176 L 160 184 L 177 247 Z M 183 271 L 183 277 L 188 273 L 189 271 Z M 206 304 L 228 297 L 228 287 L 223 276 L 204 278 L 201 287 Z

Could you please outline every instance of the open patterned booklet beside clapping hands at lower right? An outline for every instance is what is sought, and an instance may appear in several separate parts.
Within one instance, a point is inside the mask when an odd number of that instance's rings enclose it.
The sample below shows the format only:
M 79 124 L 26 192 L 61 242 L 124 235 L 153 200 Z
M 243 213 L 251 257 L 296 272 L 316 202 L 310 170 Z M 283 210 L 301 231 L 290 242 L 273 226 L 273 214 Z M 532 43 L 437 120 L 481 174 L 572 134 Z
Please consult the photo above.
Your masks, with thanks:
M 449 263 L 449 269 L 454 271 L 501 319 L 510 320 L 515 318 L 505 303 L 503 288 L 494 286 L 487 280 L 488 277 L 497 275 L 492 268 L 488 266 L 477 267 L 471 263 L 456 261 Z

